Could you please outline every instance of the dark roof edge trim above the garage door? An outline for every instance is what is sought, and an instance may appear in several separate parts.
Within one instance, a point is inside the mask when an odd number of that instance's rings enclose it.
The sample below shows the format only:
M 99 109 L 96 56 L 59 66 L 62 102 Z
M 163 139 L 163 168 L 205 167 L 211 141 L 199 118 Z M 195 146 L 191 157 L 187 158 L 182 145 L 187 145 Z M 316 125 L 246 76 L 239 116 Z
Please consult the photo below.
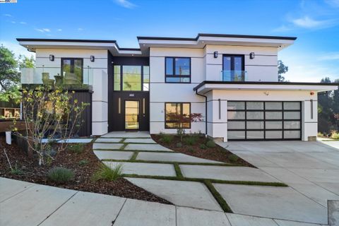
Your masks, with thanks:
M 199 85 L 193 88 L 194 91 L 201 88 L 205 84 L 256 84 L 256 85 L 338 85 L 339 83 L 291 83 L 291 82 L 242 82 L 242 81 L 203 81 Z

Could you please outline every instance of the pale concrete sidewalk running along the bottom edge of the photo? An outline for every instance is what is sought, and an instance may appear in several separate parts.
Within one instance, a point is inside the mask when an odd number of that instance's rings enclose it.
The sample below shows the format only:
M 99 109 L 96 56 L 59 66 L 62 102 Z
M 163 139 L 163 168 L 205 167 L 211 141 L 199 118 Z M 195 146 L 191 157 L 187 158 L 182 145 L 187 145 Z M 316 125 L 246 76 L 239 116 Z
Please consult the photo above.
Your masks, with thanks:
M 316 226 L 59 189 L 2 177 L 0 225 Z

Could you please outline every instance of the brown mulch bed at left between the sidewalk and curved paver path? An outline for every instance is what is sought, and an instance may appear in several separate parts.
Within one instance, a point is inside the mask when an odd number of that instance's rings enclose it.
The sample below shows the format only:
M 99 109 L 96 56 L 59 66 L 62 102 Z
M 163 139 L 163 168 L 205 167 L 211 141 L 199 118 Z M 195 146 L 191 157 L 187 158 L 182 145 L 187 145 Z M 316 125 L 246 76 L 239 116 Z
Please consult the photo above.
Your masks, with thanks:
M 17 166 L 22 174 L 11 174 L 4 148 L 12 167 Z M 69 150 L 58 153 L 52 165 L 39 166 L 37 157 L 28 157 L 23 151 L 20 151 L 15 143 L 7 145 L 5 138 L 0 136 L 0 177 L 18 179 L 25 182 L 36 184 L 45 184 L 57 186 L 64 189 L 75 189 L 80 191 L 89 191 L 124 198 L 135 198 L 143 201 L 153 201 L 157 203 L 172 204 L 144 189 L 132 184 L 124 178 L 119 178 L 115 182 L 93 181 L 92 176 L 100 166 L 100 160 L 94 155 L 92 143 L 85 145 L 82 153 L 72 153 Z M 81 160 L 87 160 L 88 164 L 79 165 Z M 67 184 L 57 184 L 47 179 L 47 172 L 52 167 L 66 167 L 72 169 L 75 177 L 73 182 Z

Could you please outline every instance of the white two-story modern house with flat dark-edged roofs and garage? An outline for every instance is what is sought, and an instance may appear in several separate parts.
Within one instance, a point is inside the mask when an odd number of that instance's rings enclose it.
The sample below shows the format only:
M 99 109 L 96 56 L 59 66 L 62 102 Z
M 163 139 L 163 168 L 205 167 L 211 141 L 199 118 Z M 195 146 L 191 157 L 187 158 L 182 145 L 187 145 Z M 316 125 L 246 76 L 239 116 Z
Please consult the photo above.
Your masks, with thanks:
M 138 37 L 138 49 L 115 40 L 17 40 L 36 53 L 22 83 L 76 85 L 77 97 L 90 102 L 83 136 L 184 128 L 221 141 L 312 141 L 317 93 L 338 88 L 278 82 L 278 52 L 295 37 Z M 173 113 L 203 120 L 179 123 Z

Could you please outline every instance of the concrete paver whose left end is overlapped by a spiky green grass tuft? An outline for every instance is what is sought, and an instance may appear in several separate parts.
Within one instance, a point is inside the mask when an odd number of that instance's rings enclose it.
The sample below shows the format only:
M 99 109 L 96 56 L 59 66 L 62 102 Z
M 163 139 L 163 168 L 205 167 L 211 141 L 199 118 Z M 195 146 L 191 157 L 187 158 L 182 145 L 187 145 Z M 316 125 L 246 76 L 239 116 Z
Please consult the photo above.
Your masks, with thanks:
M 143 162 L 103 162 L 105 165 L 114 168 L 122 165 L 124 174 L 137 174 L 148 176 L 175 177 L 175 170 L 172 164 L 143 163 Z

